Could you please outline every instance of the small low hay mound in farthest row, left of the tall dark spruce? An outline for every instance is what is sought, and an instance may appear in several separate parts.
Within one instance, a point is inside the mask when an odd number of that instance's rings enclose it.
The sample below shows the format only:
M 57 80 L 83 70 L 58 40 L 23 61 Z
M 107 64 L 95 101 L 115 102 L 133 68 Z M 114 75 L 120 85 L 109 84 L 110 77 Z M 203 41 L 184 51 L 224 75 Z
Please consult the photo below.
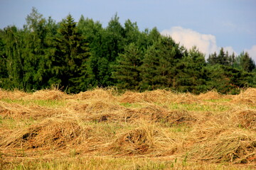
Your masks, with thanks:
M 40 90 L 23 97 L 24 100 L 61 100 L 69 98 L 68 94 L 58 90 Z

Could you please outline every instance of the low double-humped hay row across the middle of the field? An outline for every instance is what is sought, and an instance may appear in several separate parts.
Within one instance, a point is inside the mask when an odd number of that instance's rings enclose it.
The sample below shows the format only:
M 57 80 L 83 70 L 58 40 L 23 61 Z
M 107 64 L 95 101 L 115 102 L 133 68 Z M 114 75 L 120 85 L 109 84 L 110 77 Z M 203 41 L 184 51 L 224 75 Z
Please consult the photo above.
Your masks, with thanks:
M 70 102 L 67 107 L 71 113 L 79 115 L 82 120 L 87 121 L 136 123 L 144 120 L 151 123 L 169 124 L 196 121 L 196 117 L 188 111 L 169 111 L 154 103 L 144 103 L 139 108 L 125 108 L 119 103 L 92 99 L 91 101 Z

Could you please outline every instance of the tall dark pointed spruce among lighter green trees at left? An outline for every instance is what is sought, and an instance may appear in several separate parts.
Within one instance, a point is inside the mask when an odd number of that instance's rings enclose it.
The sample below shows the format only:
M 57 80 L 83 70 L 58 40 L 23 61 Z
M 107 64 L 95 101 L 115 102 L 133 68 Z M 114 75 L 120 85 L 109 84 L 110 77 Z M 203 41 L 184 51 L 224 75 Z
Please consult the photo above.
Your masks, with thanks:
M 61 23 L 56 39 L 55 70 L 69 93 L 78 93 L 86 82 L 84 70 L 89 57 L 87 42 L 78 28 L 73 17 L 69 14 Z

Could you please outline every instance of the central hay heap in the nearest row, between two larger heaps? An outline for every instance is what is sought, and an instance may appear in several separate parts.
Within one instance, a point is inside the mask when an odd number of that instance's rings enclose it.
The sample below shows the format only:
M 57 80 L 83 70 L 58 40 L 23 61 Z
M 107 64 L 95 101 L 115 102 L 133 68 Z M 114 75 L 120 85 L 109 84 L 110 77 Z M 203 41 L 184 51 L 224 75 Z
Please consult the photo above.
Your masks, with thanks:
M 111 145 L 111 149 L 121 155 L 147 154 L 157 151 L 174 153 L 177 148 L 175 140 L 166 133 L 154 128 L 154 125 L 144 125 L 119 135 Z

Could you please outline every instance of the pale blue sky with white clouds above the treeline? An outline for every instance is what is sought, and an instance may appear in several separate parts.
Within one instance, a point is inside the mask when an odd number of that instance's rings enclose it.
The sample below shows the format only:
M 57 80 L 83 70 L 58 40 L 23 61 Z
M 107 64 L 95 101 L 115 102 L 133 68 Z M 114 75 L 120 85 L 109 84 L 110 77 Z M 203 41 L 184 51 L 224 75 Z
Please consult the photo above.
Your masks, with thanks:
M 117 13 L 120 23 L 137 22 L 140 30 L 158 28 L 188 49 L 206 54 L 248 52 L 256 62 L 256 0 L 0 0 L 0 29 L 23 28 L 32 8 L 56 22 L 70 13 L 107 26 Z

